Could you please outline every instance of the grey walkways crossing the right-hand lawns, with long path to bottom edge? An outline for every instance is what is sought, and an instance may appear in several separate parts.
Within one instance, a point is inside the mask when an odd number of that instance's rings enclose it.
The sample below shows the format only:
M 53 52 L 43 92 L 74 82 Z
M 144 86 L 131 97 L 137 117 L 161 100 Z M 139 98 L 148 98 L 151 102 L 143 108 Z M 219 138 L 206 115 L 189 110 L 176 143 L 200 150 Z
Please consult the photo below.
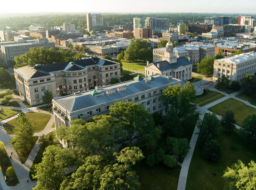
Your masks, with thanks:
M 198 83 L 198 82 L 197 82 L 197 83 Z M 217 89 L 215 89 L 215 88 L 212 88 L 212 89 L 210 89 L 210 90 L 214 90 L 214 91 L 223 93 L 223 92 L 221 92 L 221 91 L 219 91 L 219 90 L 217 90 Z M 203 120 L 205 113 L 212 113 L 212 112 L 210 112 L 210 111 L 207 110 L 208 108 L 210 108 L 210 107 L 212 107 L 212 106 L 214 106 L 214 105 L 216 105 L 216 104 L 219 104 L 219 103 L 221 103 L 221 102 L 223 102 L 223 101 L 225 101 L 225 100 L 227 100 L 227 99 L 229 99 L 229 98 L 234 98 L 234 99 L 236 99 L 236 100 L 239 100 L 239 101 L 245 103 L 245 104 L 248 105 L 248 106 L 251 106 L 251 107 L 256 108 L 256 106 L 251 105 L 250 103 L 248 104 L 247 101 L 244 101 L 244 100 L 241 100 L 241 99 L 235 97 L 235 95 L 237 95 L 237 94 L 239 94 L 239 93 L 241 93 L 241 92 L 242 92 L 242 90 L 238 90 L 238 91 L 236 91 L 236 92 L 233 92 L 232 94 L 225 94 L 225 95 L 226 95 L 225 97 L 223 97 L 223 98 L 221 98 L 221 99 L 218 99 L 218 100 L 216 100 L 216 101 L 214 101 L 214 102 L 212 102 L 212 103 L 209 103 L 209 104 L 207 104 L 207 105 L 205 105 L 205 106 L 203 106 L 203 107 L 197 106 L 196 111 L 199 111 L 199 112 L 202 114 L 202 115 L 199 116 L 200 119 Z M 236 126 L 236 127 L 237 127 L 238 129 L 240 128 L 239 126 Z M 197 126 L 196 126 L 196 127 L 195 127 L 195 130 L 194 130 L 194 132 L 193 132 L 192 138 L 191 138 L 191 140 L 190 140 L 190 143 L 189 143 L 191 149 L 189 150 L 189 153 L 187 154 L 187 156 L 184 158 L 184 161 L 183 161 L 183 164 L 182 164 L 182 168 L 181 168 L 181 171 L 180 171 L 180 176 L 179 176 L 179 182 L 178 182 L 177 190 L 185 190 L 185 189 L 186 189 L 186 182 L 187 182 L 187 176 L 188 176 L 188 169 L 189 169 L 189 165 L 190 165 L 190 162 L 191 162 L 191 159 L 192 159 L 192 156 L 193 156 L 193 152 L 194 152 L 194 149 L 195 149 L 195 146 L 196 146 L 196 141 L 197 141 L 197 138 L 198 138 L 198 135 L 195 134 L 195 133 L 197 133 L 197 132 L 198 132 L 198 128 L 197 128 Z

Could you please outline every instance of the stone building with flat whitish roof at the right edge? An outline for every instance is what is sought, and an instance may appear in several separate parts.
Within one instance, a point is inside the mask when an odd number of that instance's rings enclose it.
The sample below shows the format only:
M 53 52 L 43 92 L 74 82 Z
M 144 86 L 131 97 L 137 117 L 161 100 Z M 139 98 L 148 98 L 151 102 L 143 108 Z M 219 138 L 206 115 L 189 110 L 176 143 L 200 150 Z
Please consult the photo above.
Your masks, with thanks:
M 246 74 L 256 71 L 255 51 L 242 53 L 214 61 L 213 79 L 218 80 L 224 74 L 230 81 L 239 81 Z

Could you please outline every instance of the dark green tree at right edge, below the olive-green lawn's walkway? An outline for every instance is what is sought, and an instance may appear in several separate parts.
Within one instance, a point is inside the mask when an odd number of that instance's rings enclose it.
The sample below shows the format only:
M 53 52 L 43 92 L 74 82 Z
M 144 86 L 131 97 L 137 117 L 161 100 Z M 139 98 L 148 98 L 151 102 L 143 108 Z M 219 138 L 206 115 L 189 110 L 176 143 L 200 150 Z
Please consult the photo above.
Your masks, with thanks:
M 256 113 L 248 115 L 243 121 L 243 128 L 239 130 L 241 138 L 250 147 L 256 148 Z

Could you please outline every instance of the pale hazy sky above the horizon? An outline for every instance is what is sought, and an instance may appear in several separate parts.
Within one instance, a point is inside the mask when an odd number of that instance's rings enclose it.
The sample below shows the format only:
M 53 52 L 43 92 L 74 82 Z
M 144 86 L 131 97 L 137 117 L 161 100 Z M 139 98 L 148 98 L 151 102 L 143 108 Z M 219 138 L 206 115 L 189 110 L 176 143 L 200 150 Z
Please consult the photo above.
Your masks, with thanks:
M 2 0 L 2 13 L 203 12 L 255 14 L 256 1 L 241 0 Z

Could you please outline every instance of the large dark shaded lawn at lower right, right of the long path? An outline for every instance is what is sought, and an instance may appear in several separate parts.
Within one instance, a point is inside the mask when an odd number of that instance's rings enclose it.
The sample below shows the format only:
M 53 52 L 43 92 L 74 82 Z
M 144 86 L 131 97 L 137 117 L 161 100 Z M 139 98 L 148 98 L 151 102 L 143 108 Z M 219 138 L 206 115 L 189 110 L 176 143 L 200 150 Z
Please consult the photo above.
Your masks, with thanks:
M 238 159 L 246 165 L 251 160 L 256 160 L 255 149 L 249 148 L 247 144 L 243 143 L 237 129 L 231 134 L 226 134 L 222 129 L 221 136 L 217 138 L 217 141 L 221 144 L 223 156 L 216 162 L 202 157 L 201 147 L 196 144 L 188 170 L 186 190 L 222 190 L 226 182 L 221 176 L 227 167 L 237 163 Z M 216 175 L 214 176 L 213 173 Z

